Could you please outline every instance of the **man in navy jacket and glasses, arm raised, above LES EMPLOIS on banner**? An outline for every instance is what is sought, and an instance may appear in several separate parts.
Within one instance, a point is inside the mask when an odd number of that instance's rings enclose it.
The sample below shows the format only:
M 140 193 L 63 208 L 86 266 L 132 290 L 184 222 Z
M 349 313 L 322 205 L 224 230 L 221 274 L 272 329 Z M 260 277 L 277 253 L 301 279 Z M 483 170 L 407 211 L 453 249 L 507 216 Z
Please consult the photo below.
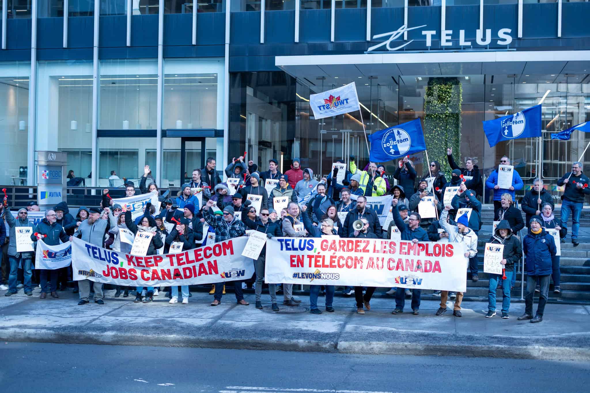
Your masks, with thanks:
M 398 227 L 399 235 L 402 240 L 406 240 L 412 243 L 428 242 L 428 233 L 420 226 L 420 214 L 412 213 L 409 215 L 408 223 L 404 222 L 401 214 L 399 214 L 398 201 L 394 199 L 392 201 L 393 209 L 391 211 L 394 216 L 395 226 Z M 404 312 L 405 296 L 408 294 L 409 289 L 398 288 L 395 293 L 395 309 L 391 313 L 396 315 Z M 414 288 L 411 289 L 412 295 L 412 314 L 418 315 L 420 308 L 420 295 L 421 290 Z

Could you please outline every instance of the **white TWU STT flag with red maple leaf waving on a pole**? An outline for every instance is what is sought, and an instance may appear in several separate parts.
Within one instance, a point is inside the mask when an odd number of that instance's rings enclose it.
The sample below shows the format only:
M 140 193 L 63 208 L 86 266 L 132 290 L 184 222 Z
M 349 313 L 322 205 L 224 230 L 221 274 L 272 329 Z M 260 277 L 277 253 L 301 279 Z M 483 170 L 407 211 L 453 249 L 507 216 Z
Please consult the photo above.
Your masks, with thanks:
M 310 94 L 309 107 L 316 119 L 360 111 L 355 82 L 323 93 Z

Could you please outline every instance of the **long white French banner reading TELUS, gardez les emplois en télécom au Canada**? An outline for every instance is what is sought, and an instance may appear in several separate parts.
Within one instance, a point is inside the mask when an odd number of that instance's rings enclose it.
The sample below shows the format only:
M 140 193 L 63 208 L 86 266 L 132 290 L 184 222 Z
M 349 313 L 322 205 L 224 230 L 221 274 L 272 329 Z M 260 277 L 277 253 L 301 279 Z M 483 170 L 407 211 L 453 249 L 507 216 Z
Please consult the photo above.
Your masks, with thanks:
M 465 292 L 463 243 L 385 239 L 268 239 L 264 280 Z M 272 259 L 268 258 L 272 255 Z

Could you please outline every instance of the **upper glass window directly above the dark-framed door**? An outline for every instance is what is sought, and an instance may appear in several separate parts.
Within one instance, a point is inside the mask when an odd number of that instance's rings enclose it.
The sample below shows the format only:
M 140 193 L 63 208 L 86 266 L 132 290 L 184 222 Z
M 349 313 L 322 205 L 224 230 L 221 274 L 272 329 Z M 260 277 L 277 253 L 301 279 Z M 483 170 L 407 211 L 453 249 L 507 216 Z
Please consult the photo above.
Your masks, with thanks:
M 164 72 L 162 128 L 223 128 L 222 60 L 165 60 Z

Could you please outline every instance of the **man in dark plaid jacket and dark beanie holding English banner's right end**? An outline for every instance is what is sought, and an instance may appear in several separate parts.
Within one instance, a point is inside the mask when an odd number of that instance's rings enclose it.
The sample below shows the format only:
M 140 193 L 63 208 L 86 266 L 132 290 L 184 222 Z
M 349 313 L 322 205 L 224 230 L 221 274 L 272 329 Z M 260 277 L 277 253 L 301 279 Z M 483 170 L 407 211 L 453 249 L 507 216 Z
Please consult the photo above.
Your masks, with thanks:
M 215 229 L 215 243 L 224 242 L 228 239 L 234 239 L 235 237 L 244 236 L 246 234 L 246 228 L 244 223 L 234 218 L 234 208 L 232 206 L 225 206 L 223 209 L 223 215 L 217 216 L 211 213 L 211 207 L 213 201 L 209 199 L 207 204 L 203 208 L 203 218 L 205 221 Z M 247 306 L 250 303 L 244 300 L 244 293 L 242 292 L 242 282 L 240 280 L 232 281 L 235 290 L 235 299 L 238 304 Z M 225 282 L 215 283 L 215 297 L 212 306 L 217 306 L 221 303 L 221 296 L 223 294 Z

